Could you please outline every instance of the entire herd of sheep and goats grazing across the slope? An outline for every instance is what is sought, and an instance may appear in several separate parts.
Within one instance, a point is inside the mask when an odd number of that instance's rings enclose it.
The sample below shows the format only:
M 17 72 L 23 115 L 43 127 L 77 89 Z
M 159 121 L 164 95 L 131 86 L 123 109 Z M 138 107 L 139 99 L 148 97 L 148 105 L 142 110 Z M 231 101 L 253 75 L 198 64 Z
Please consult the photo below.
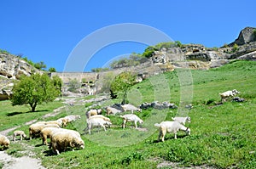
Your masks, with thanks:
M 233 97 L 239 93 L 236 89 L 232 91 L 227 91 L 224 93 L 219 93 L 221 101 L 225 101 L 227 98 Z M 142 109 L 137 108 L 132 104 L 119 105 L 120 107 L 108 106 L 106 108 L 106 115 L 117 115 L 122 112 L 131 111 L 131 114 L 119 115 L 122 118 L 122 127 L 125 128 L 126 122 L 133 122 L 134 126 L 137 128 L 137 122 L 143 124 L 143 120 L 134 114 L 134 111 L 142 112 Z M 120 108 L 120 109 L 119 109 Z M 192 108 L 192 107 L 191 107 Z M 84 129 L 84 133 L 91 133 L 93 127 L 103 127 L 106 131 L 106 127 L 112 125 L 110 119 L 107 116 L 102 115 L 102 109 L 88 110 L 86 113 L 86 123 L 87 127 Z M 67 150 L 68 147 L 74 149 L 84 149 L 84 140 L 81 138 L 80 133 L 75 130 L 65 129 L 67 123 L 79 120 L 80 115 L 67 115 L 56 121 L 38 121 L 29 126 L 29 139 L 40 137 L 42 138 L 42 143 L 47 145 L 47 138 L 50 139 L 49 148 L 52 149 L 54 154 L 59 155 L 61 151 Z M 160 123 L 155 123 L 154 127 L 159 128 L 158 140 L 164 142 L 166 132 L 174 133 L 174 138 L 177 139 L 177 132 L 183 131 L 188 135 L 190 134 L 190 128 L 185 127 L 186 122 L 190 122 L 189 116 L 185 117 L 172 117 L 172 121 L 162 121 Z M 26 134 L 23 131 L 15 131 L 13 133 L 13 141 L 16 137 L 20 136 L 20 140 L 26 138 Z M 0 134 L 0 145 L 3 148 L 9 148 L 9 138 Z

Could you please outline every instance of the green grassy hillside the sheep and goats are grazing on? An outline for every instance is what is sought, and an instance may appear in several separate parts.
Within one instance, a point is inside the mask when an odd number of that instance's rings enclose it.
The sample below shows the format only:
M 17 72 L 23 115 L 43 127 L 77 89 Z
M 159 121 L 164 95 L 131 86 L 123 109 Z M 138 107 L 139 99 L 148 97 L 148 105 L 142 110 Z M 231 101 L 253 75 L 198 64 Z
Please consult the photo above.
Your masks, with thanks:
M 132 104 L 168 100 L 179 105 L 180 93 L 183 97 L 186 97 L 186 92 L 191 93 L 183 89 L 193 87 L 194 108 L 189 110 L 190 136 L 178 132 L 177 140 L 174 140 L 173 134 L 167 134 L 165 143 L 158 142 L 158 131 L 154 123 L 171 120 L 178 110 L 143 110 L 137 115 L 143 119 L 142 127 L 146 130 L 136 130 L 131 128 L 131 124 L 121 129 L 121 119 L 112 115 L 109 118 L 114 126 L 107 132 L 102 129 L 97 132 L 97 129 L 94 129 L 90 136 L 88 134 L 82 136 L 85 149 L 52 155 L 51 150 L 41 145 L 42 141 L 38 138 L 12 143 L 7 152 L 20 156 L 26 152 L 25 150 L 32 149 L 35 155 L 43 160 L 43 165 L 49 168 L 156 168 L 162 161 L 172 161 L 172 165 L 177 166 L 254 168 L 256 166 L 255 70 L 256 62 L 236 61 L 217 69 L 191 70 L 192 82 L 190 80 L 186 82 L 184 79 L 189 76 L 181 77 L 182 74 L 176 70 L 151 77 L 131 88 L 128 99 Z M 182 90 L 180 81 L 183 82 Z M 228 101 L 216 105 L 220 101 L 218 93 L 234 88 L 241 92 L 238 96 L 246 99 L 246 102 Z M 5 106 L 4 110 L 0 110 L 1 125 L 4 128 L 25 121 L 15 118 L 16 115 L 25 115 L 24 117 L 31 115 L 15 114 L 14 112 L 19 112 L 19 109 L 12 110 L 8 102 L 1 104 Z M 11 113 L 13 115 L 9 116 L 9 122 L 5 124 L 3 119 Z M 67 126 L 82 133 L 86 126 L 84 105 L 69 107 L 61 114 L 44 120 L 57 119 L 67 114 L 82 115 L 81 120 Z M 39 118 L 42 112 L 34 115 L 38 117 L 29 118 Z M 22 126 L 20 129 L 28 132 L 27 128 Z M 29 146 L 22 146 L 20 143 Z

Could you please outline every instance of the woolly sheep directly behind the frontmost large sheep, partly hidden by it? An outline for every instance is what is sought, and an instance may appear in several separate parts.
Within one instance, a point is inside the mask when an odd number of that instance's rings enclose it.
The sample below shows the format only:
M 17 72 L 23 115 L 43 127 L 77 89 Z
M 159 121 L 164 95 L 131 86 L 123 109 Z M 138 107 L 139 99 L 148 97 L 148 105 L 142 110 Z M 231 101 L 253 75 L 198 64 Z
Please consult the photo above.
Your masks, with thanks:
M 55 127 L 45 127 L 40 132 L 40 136 L 43 140 L 43 144 L 47 145 L 47 138 L 50 138 L 56 132 L 74 132 L 78 137 L 81 137 L 80 133 L 74 130 L 69 130 L 64 128 L 55 128 Z

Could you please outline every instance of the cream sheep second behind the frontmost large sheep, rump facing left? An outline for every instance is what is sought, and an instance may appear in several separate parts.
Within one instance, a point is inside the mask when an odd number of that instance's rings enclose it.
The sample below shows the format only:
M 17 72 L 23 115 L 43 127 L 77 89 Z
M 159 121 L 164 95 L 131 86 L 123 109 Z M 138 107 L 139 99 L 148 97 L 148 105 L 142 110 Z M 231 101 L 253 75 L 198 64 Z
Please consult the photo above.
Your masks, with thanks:
M 45 128 L 45 127 L 55 127 L 55 128 L 60 128 L 59 125 L 56 124 L 45 124 L 45 123 L 35 123 L 30 125 L 29 127 L 29 138 L 32 140 L 32 137 L 38 136 L 40 132 Z

